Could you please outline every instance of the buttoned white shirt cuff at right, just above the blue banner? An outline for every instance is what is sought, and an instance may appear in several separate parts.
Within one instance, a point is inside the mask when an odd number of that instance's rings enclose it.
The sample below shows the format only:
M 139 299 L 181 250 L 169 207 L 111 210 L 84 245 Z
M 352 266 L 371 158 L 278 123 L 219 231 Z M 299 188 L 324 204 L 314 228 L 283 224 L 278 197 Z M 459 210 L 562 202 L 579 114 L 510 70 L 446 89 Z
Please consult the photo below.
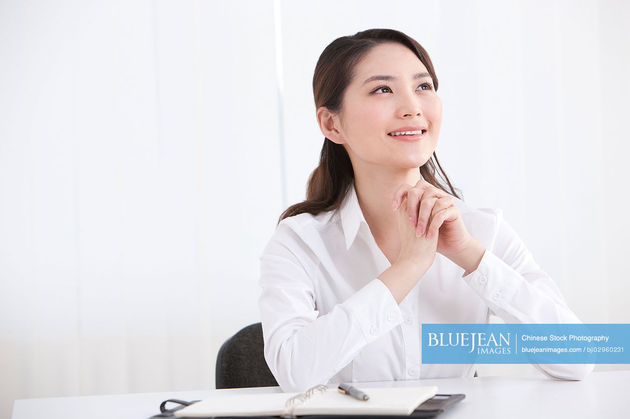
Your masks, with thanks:
M 504 301 L 510 301 L 520 284 L 525 281 L 524 277 L 488 249 L 477 269 L 462 276 L 462 279 L 490 308 L 493 304 L 501 307 Z

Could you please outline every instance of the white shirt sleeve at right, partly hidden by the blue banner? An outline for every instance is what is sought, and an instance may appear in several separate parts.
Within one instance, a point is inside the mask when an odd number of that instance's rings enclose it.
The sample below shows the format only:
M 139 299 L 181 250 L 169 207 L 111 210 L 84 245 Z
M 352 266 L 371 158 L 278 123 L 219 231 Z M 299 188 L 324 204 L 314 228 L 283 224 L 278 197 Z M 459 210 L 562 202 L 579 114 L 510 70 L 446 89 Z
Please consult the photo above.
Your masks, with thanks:
M 489 310 L 507 324 L 579 323 L 556 283 L 536 264 L 532 254 L 497 209 L 496 238 L 476 271 L 462 278 Z M 532 364 L 553 379 L 581 380 L 595 364 Z

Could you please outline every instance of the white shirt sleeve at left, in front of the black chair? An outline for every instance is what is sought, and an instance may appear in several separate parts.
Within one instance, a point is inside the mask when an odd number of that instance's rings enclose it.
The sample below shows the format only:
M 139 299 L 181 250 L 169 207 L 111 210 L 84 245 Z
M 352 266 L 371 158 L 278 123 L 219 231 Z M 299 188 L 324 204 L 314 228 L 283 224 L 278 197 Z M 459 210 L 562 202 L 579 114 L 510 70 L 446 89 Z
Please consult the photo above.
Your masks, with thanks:
M 265 360 L 285 392 L 328 384 L 365 345 L 403 321 L 394 296 L 378 278 L 320 315 L 312 281 L 319 262 L 284 223 L 260 262 L 258 308 Z

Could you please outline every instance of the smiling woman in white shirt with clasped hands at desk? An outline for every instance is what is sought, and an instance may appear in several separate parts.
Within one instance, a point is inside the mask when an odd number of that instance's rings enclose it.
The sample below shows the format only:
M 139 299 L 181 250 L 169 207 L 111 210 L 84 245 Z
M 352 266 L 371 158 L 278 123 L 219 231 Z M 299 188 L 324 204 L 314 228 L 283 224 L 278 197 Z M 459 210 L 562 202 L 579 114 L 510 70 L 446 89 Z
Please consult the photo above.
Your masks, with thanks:
M 319 166 L 260 257 L 265 359 L 284 391 L 472 377 L 472 364 L 421 364 L 421 323 L 581 323 L 501 210 L 455 193 L 435 155 L 437 87 L 399 31 L 343 36 L 319 57 Z M 534 365 L 568 380 L 593 369 Z

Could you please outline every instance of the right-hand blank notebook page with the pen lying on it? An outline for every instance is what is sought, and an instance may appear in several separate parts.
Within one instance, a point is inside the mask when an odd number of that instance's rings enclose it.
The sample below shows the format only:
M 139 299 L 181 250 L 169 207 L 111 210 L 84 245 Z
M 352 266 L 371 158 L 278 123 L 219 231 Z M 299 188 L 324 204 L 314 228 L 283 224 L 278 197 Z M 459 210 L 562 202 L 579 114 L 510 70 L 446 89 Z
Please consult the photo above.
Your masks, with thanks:
M 437 386 L 360 388 L 368 400 L 358 400 L 336 389 L 315 394 L 306 405 L 295 406 L 295 415 L 411 415 L 437 394 Z

